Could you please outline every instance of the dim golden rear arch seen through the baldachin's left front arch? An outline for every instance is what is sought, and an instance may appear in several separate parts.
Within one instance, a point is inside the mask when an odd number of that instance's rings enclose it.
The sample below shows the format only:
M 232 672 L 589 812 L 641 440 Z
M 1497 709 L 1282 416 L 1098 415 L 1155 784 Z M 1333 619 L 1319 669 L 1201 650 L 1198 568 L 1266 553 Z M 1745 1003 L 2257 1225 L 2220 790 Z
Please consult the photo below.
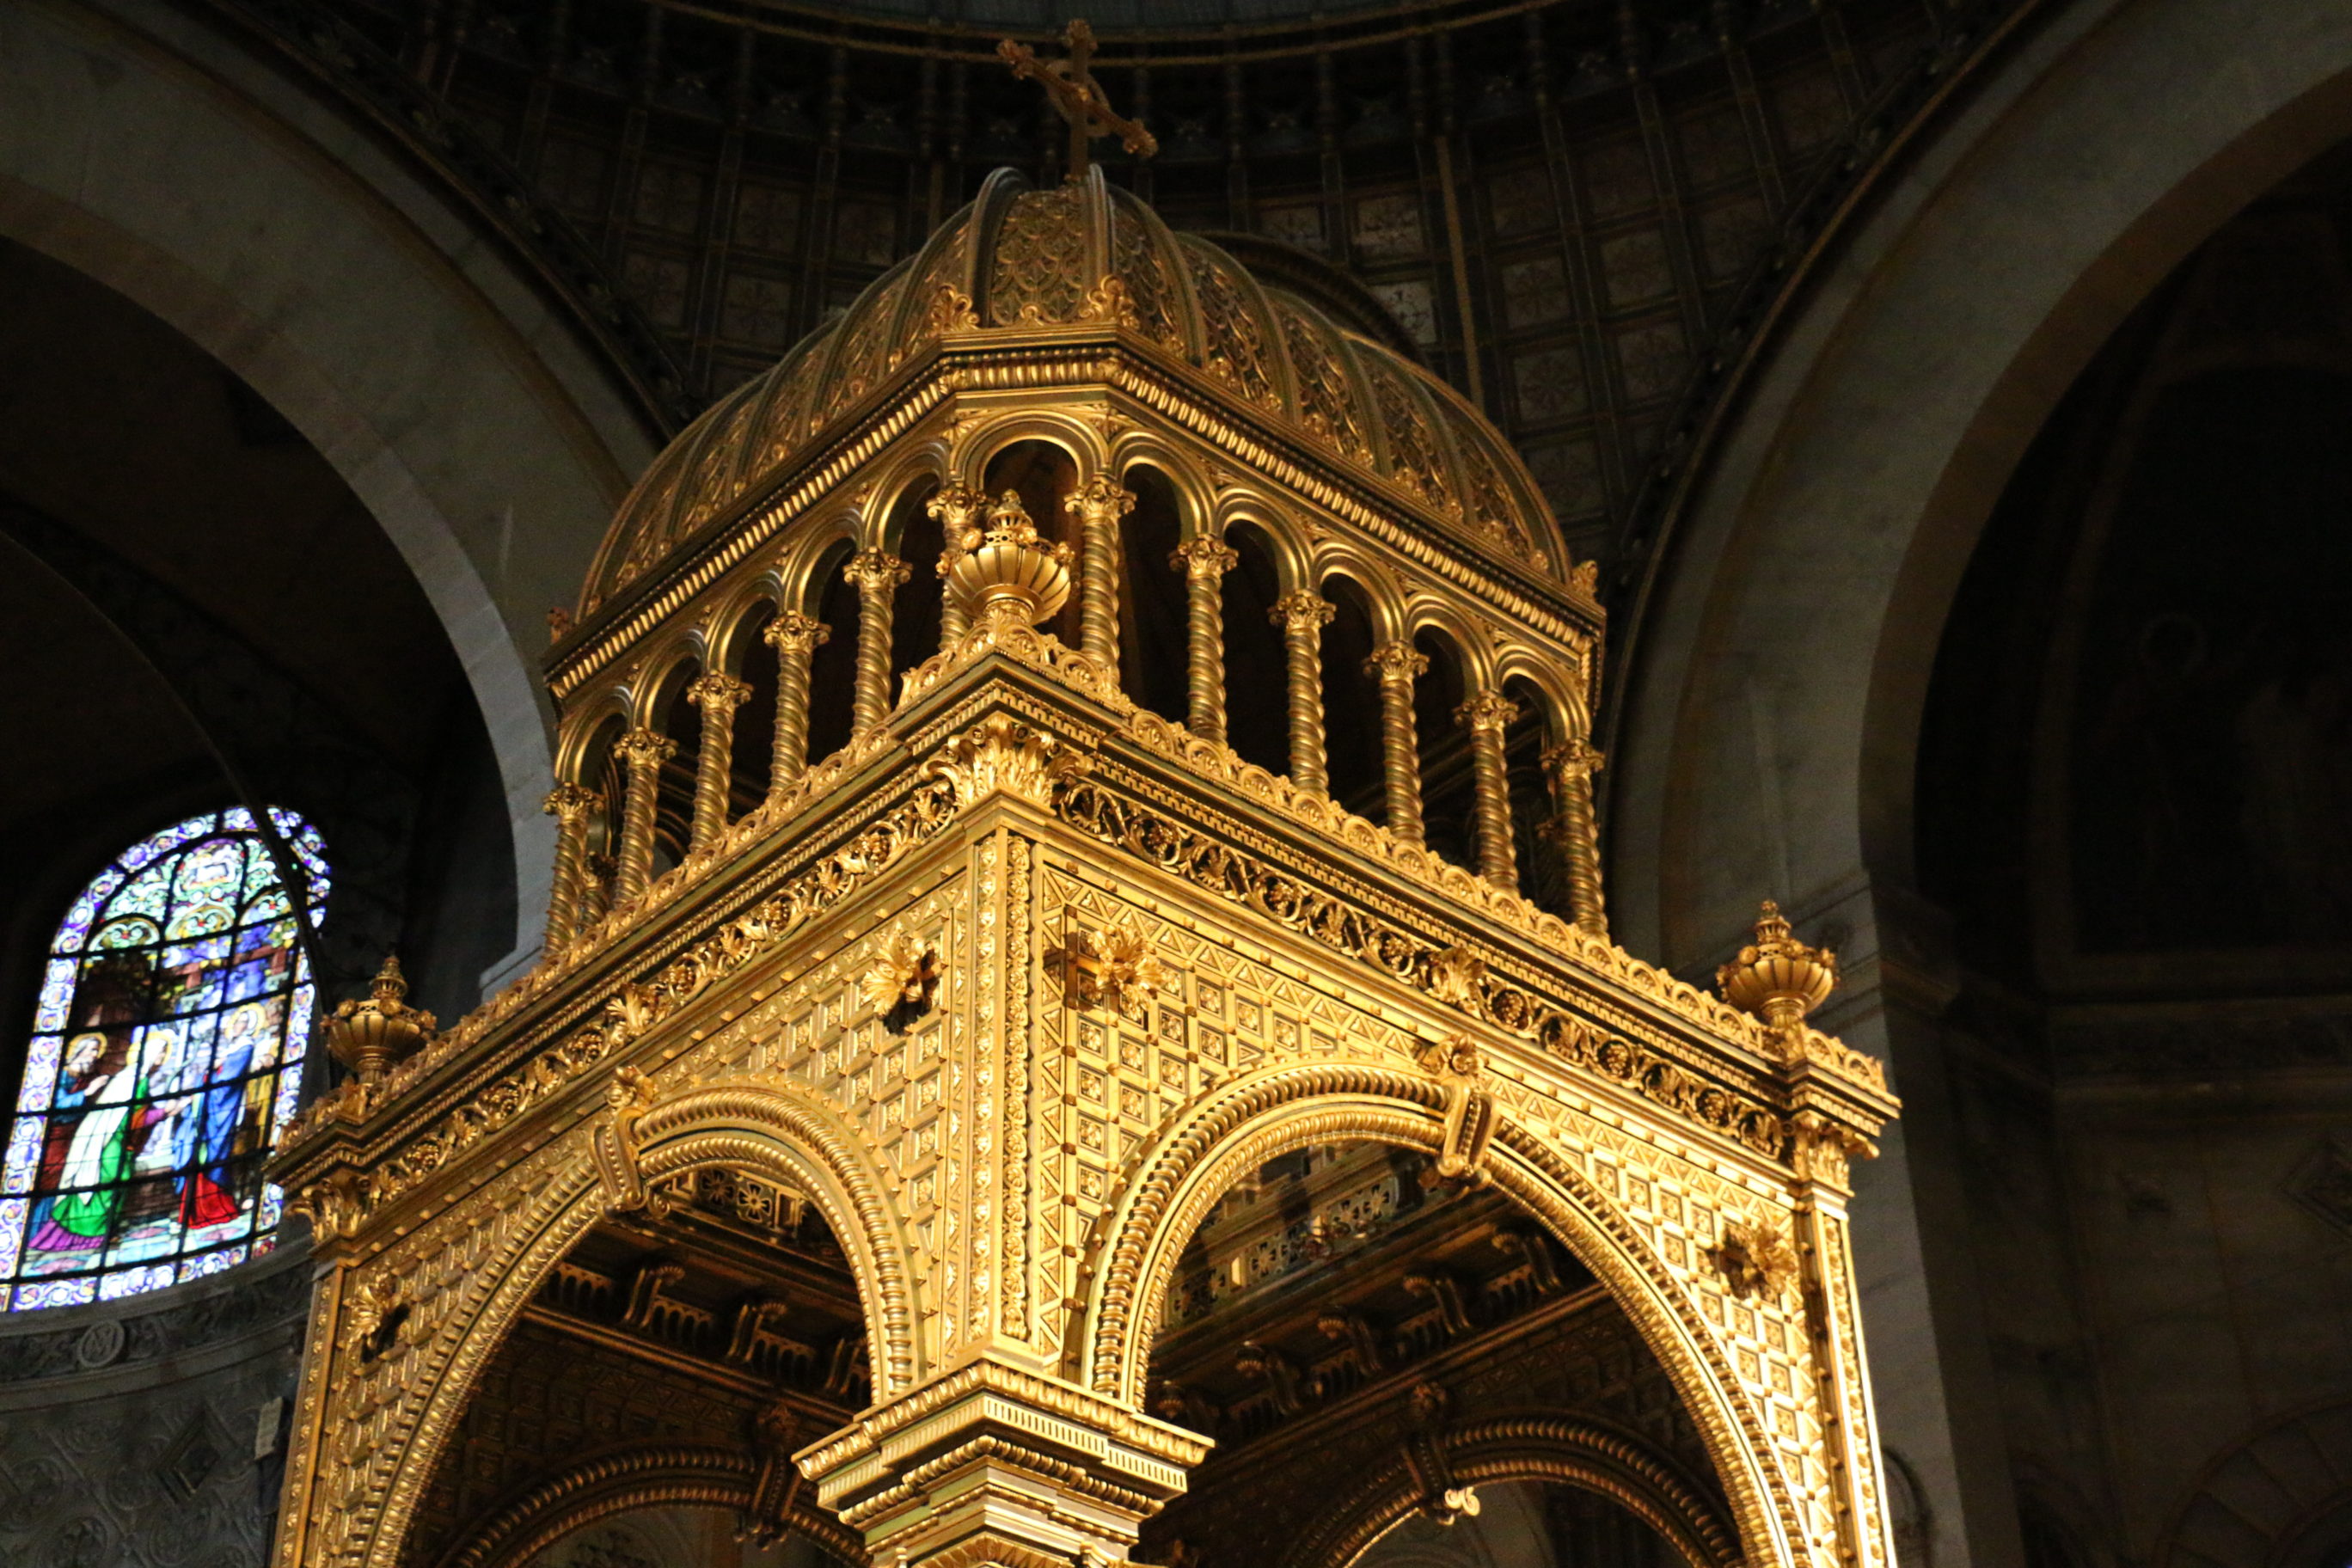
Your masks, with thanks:
M 760 1460 L 741 1448 L 609 1448 L 508 1500 L 473 1540 L 447 1552 L 437 1568 L 520 1568 L 572 1530 L 642 1507 L 746 1509 L 757 1479 Z M 797 1495 L 786 1509 L 786 1523 L 842 1561 L 866 1561 L 866 1542 L 854 1530 Z

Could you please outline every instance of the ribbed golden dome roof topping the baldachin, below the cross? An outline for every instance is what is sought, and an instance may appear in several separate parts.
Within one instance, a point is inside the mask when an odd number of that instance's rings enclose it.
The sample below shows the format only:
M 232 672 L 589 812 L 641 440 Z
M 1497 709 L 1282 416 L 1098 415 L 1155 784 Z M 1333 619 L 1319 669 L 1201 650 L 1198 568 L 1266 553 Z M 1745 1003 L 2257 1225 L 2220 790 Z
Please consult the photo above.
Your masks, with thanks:
M 670 442 L 614 517 L 583 611 L 708 524 L 757 505 L 771 480 L 955 339 L 1068 324 L 1098 324 L 1122 346 L 1181 362 L 1225 400 L 1303 433 L 1338 470 L 1385 487 L 1402 517 L 1566 581 L 1569 555 L 1541 491 L 1451 386 L 1261 282 L 1216 244 L 1171 230 L 1101 169 L 1049 190 L 997 169 L 915 256 Z

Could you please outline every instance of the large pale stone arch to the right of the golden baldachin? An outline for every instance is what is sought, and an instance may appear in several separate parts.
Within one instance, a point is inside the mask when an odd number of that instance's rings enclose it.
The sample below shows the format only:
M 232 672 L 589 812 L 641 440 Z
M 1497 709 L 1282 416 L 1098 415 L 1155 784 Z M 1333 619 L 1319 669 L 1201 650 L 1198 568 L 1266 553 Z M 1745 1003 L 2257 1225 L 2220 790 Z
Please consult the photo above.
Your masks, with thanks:
M 2053 16 L 1919 150 L 1616 628 L 1611 896 L 1639 950 L 1712 957 L 1759 886 L 1907 884 L 1936 646 L 2025 444 L 2204 237 L 2345 136 L 2352 9 L 2105 0 Z

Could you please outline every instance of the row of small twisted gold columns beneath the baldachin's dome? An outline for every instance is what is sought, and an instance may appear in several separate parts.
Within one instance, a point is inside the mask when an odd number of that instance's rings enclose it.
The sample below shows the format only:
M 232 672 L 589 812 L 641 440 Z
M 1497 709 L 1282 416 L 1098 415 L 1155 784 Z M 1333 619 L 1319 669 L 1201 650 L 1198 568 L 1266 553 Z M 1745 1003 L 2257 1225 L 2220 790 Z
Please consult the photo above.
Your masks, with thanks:
M 941 649 L 953 649 L 971 628 L 969 607 L 946 590 L 946 578 L 960 555 L 981 538 L 988 496 L 969 484 L 948 484 L 927 503 L 941 524 L 946 550 L 936 562 L 943 581 Z M 1096 475 L 1065 501 L 1077 522 L 1077 623 L 1080 651 L 1103 670 L 1120 668 L 1120 522 L 1134 510 L 1134 491 Z M 1223 538 L 1195 534 L 1171 557 L 1171 569 L 1185 581 L 1185 726 L 1225 743 L 1225 602 L 1223 576 L 1240 555 Z M 913 567 L 887 550 L 858 550 L 842 576 L 858 592 L 858 646 L 851 736 L 882 726 L 891 710 L 891 607 L 896 590 L 910 581 Z M 1324 654 L 1322 632 L 1336 607 L 1312 588 L 1282 595 L 1270 618 L 1284 637 L 1284 686 L 1289 698 L 1289 776 L 1303 790 L 1329 792 L 1324 748 Z M 781 611 L 762 639 L 776 649 L 776 731 L 769 771 L 769 797 L 779 797 L 807 771 L 809 750 L 809 670 L 830 628 L 800 611 Z M 1364 672 L 1381 693 L 1381 783 L 1388 832 L 1423 846 L 1421 813 L 1421 736 L 1414 712 L 1416 679 L 1430 661 L 1409 639 L 1381 644 Z M 687 701 L 701 715 L 701 741 L 694 778 L 694 816 L 689 853 L 708 849 L 727 830 L 727 799 L 734 766 L 734 715 L 753 696 L 750 682 L 717 670 L 687 686 Z M 1519 891 L 1512 849 L 1512 804 L 1505 759 L 1505 733 L 1519 717 L 1501 689 L 1472 691 L 1454 712 L 1468 731 L 1475 776 L 1477 872 L 1498 889 Z M 621 844 L 614 856 L 612 905 L 644 893 L 654 870 L 654 813 L 661 790 L 661 766 L 677 743 L 652 729 L 630 729 L 614 745 L 621 766 Z M 1571 736 L 1543 752 L 1555 816 L 1538 832 L 1562 853 L 1566 865 L 1569 919 L 1595 936 L 1606 936 L 1599 877 L 1599 835 L 1592 811 L 1592 773 L 1602 755 Z M 600 792 L 562 783 L 548 795 L 546 811 L 555 816 L 555 879 L 548 900 L 546 947 L 553 952 L 572 940 L 593 912 L 593 877 L 588 870 L 588 827 L 604 806 Z

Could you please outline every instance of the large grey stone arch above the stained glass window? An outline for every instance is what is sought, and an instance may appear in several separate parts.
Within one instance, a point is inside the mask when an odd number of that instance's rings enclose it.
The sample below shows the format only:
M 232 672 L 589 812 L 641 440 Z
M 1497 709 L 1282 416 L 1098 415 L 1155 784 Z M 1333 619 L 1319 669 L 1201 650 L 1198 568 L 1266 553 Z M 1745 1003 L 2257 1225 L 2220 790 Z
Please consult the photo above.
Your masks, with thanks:
M 529 950 L 553 863 L 539 811 L 553 783 L 543 616 L 579 595 L 652 433 L 621 378 L 442 190 L 228 33 L 186 14 L 148 21 L 134 33 L 96 9 L 12 16 L 0 235 L 235 371 L 400 550 L 485 717 L 513 835 L 515 945 Z M 155 200 L 165 143 L 205 202 Z M 419 343 L 433 346 L 428 374 Z

